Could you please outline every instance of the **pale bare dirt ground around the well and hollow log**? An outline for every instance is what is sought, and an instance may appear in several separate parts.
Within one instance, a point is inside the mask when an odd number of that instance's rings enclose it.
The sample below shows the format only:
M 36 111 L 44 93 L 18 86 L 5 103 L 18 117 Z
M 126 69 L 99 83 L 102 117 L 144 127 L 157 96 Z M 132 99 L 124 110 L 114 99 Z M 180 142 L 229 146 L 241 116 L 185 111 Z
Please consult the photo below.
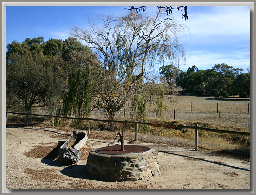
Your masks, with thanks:
M 63 135 L 71 133 L 45 127 L 7 127 L 6 189 L 250 189 L 250 162 L 151 143 L 139 145 L 158 151 L 159 176 L 134 182 L 93 180 L 85 172 L 86 158 L 69 167 L 61 166 L 58 158 L 47 158 L 56 152 L 58 142 L 66 141 Z M 113 141 L 88 137 L 82 156 Z M 45 155 L 42 148 L 50 152 Z M 37 151 L 36 157 L 30 155 L 33 151 Z

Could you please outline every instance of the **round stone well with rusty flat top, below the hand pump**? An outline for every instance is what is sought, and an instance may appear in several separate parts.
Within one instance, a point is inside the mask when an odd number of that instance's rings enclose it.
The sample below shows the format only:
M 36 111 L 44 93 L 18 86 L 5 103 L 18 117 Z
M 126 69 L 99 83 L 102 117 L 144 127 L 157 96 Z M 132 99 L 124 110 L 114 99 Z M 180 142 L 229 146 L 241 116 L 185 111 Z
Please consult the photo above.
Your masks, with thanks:
M 101 147 L 89 153 L 86 171 L 105 181 L 145 180 L 159 175 L 158 153 L 147 146 Z

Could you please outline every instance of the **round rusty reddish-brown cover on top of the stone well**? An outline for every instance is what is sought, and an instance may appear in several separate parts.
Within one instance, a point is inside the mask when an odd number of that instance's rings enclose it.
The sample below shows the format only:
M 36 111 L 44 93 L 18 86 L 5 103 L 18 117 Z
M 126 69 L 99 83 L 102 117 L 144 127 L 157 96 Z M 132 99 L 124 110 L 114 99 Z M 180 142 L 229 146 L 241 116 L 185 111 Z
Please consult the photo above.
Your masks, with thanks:
M 130 154 L 130 153 L 140 153 L 149 151 L 151 148 L 147 146 L 139 146 L 139 145 L 124 145 L 124 151 L 120 151 L 120 145 L 114 146 L 105 146 L 96 149 L 97 153 L 100 154 Z

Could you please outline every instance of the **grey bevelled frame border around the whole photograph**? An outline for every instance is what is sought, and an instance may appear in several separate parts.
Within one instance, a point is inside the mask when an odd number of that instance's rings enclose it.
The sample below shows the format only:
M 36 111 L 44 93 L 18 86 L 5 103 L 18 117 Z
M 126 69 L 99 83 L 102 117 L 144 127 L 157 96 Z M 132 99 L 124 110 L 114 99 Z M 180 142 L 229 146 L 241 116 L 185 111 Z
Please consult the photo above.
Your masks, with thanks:
M 251 132 L 251 179 L 250 179 L 250 190 L 173 190 L 173 189 L 163 189 L 163 190 L 8 190 L 5 188 L 6 178 L 6 163 L 5 163 L 5 116 L 6 116 L 6 92 L 5 92 L 5 52 L 6 52 L 6 6 L 97 6 L 101 2 L 101 6 L 129 6 L 129 5 L 146 5 L 146 6 L 156 6 L 156 5 L 166 5 L 167 3 L 172 3 L 172 5 L 186 5 L 186 6 L 250 6 L 250 23 L 251 23 L 251 34 L 250 34 L 250 72 L 251 72 L 251 115 L 250 115 L 250 132 Z M 1 194 L 256 194 L 255 193 L 255 0 L 248 1 L 114 1 L 114 0 L 101 0 L 101 1 L 15 1 L 15 0 L 1 0 Z

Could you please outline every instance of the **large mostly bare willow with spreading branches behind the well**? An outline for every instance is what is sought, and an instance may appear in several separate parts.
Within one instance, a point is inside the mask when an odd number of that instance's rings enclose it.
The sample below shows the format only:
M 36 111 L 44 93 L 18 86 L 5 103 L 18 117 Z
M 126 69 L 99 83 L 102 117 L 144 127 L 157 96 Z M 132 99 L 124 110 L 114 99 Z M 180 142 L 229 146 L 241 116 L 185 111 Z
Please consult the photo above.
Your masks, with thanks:
M 88 20 L 88 28 L 72 29 L 72 36 L 87 43 L 100 59 L 93 69 L 92 102 L 95 108 L 103 108 L 110 120 L 133 95 L 148 94 L 140 89 L 145 82 L 151 83 L 151 67 L 164 60 L 178 64 L 185 58 L 178 42 L 184 26 L 165 20 L 165 16 L 160 11 L 155 15 L 108 15 Z M 113 128 L 111 124 L 109 128 Z

